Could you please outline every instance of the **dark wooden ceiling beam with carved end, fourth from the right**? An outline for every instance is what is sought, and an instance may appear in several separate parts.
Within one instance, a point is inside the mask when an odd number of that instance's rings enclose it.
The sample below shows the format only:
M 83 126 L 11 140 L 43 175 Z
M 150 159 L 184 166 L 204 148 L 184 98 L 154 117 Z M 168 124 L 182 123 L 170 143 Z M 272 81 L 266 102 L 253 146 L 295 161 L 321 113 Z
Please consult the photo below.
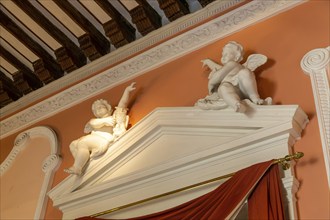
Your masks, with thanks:
M 108 1 L 95 2 L 112 18 L 103 24 L 103 29 L 116 48 L 135 40 L 135 28 Z

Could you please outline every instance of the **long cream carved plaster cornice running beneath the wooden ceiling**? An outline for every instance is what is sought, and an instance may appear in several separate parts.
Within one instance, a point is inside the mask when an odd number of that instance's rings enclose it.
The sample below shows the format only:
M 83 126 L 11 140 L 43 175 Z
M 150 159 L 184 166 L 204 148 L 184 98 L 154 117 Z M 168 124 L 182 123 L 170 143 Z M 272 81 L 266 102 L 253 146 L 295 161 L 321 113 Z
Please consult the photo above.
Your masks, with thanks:
M 230 2 L 230 3 L 228 3 Z M 216 1 L 200 12 L 193 13 L 187 18 L 182 18 L 178 22 L 165 26 L 151 35 L 138 40 L 135 44 L 127 45 L 113 53 L 104 56 L 95 62 L 72 72 L 58 81 L 51 83 L 48 88 L 42 88 L 38 93 L 29 94 L 23 97 L 26 103 L 32 103 L 41 99 L 42 95 L 49 95 L 48 89 L 57 91 L 65 86 L 70 85 L 72 81 L 79 81 L 91 74 L 113 65 L 114 63 L 137 53 L 152 44 L 156 44 L 170 35 L 185 30 L 192 25 L 195 25 L 207 17 L 216 15 L 225 9 L 230 8 L 234 4 L 241 1 Z M 55 94 L 50 98 L 43 100 L 21 112 L 18 112 L 1 121 L 1 138 L 4 138 L 14 132 L 26 128 L 40 120 L 48 118 L 58 112 L 68 109 L 88 98 L 91 98 L 99 93 L 109 90 L 129 79 L 142 75 L 147 71 L 170 62 L 185 54 L 191 53 L 199 48 L 202 48 L 216 40 L 228 36 L 234 32 L 242 30 L 250 25 L 274 16 L 282 11 L 288 10 L 305 1 L 252 1 L 245 4 L 229 13 L 220 16 L 206 24 L 198 26 L 190 31 L 187 31 L 175 38 L 172 38 L 164 43 L 159 44 L 125 62 L 122 62 L 114 67 L 107 69 L 98 75 L 91 77 L 79 84 L 76 84 L 61 93 Z M 124 53 L 123 51 L 129 52 Z M 78 75 L 78 76 L 77 76 Z M 77 78 L 76 78 L 77 76 Z M 42 94 L 42 95 L 41 95 Z M 37 97 L 37 98 L 34 98 Z M 22 102 L 23 99 L 22 99 Z M 26 103 L 24 105 L 26 105 Z M 20 102 L 17 102 L 12 109 L 1 109 L 1 117 L 5 117 L 18 109 L 22 108 Z

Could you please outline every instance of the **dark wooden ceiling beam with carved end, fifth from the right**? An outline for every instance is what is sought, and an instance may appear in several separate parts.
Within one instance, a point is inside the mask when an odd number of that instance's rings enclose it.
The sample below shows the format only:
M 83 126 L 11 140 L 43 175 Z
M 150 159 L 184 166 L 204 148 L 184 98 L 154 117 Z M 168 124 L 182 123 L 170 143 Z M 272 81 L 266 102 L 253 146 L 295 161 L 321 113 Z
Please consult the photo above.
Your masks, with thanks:
M 86 31 L 86 34 L 79 37 L 78 41 L 80 43 L 80 48 L 90 60 L 94 60 L 110 52 L 110 42 L 107 38 L 103 36 L 102 33 L 99 32 L 96 27 L 75 7 L 73 7 L 67 0 L 54 2 Z

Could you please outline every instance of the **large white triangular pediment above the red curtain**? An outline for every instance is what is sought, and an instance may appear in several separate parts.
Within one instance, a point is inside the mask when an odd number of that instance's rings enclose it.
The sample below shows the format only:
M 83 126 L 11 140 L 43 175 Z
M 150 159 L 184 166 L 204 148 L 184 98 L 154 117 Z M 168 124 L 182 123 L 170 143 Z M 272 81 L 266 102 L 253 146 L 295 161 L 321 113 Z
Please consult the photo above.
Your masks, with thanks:
M 49 195 L 64 218 L 92 215 L 283 157 L 307 122 L 296 105 L 251 105 L 247 114 L 157 108 L 91 161 L 84 175 L 69 176 Z M 147 214 L 176 202 L 115 217 Z

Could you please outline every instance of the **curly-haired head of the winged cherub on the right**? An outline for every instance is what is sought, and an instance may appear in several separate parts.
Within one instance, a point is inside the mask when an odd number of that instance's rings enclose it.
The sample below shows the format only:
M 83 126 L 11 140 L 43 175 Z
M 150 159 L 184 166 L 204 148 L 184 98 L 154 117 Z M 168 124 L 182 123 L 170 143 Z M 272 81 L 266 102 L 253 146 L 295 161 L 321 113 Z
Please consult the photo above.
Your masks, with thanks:
M 241 62 L 243 60 L 243 47 L 235 41 L 230 41 L 222 49 L 221 63 L 229 61 Z

